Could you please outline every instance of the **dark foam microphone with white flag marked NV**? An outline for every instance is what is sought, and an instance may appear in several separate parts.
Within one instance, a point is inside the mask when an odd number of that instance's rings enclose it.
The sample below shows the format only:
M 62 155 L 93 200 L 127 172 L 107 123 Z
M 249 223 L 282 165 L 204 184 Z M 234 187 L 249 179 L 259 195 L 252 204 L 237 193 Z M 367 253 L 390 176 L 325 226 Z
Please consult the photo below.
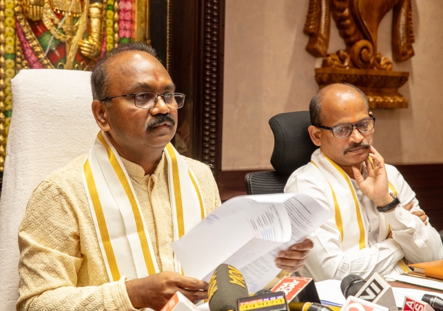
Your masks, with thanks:
M 372 274 L 367 282 L 364 282 L 358 275 L 353 275 L 353 277 L 349 275 L 342 280 L 340 289 L 345 298 L 351 297 L 355 292 L 354 297 L 383 305 L 390 311 L 398 311 L 391 285 L 377 272 Z

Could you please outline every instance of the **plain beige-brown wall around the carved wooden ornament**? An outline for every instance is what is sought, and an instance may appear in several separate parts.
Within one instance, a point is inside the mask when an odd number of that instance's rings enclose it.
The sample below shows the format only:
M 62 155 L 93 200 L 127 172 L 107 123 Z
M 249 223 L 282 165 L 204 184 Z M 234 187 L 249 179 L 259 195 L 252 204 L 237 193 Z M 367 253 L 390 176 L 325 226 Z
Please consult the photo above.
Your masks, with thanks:
M 308 0 L 226 0 L 223 170 L 269 169 L 274 139 L 267 121 L 307 110 L 316 90 L 316 59 L 302 29 Z M 409 108 L 375 110 L 374 146 L 387 163 L 443 163 L 443 1 L 412 0 L 415 56 L 394 63 L 409 71 L 400 92 Z M 378 32 L 378 50 L 391 57 L 392 12 Z M 329 52 L 344 48 L 331 23 Z

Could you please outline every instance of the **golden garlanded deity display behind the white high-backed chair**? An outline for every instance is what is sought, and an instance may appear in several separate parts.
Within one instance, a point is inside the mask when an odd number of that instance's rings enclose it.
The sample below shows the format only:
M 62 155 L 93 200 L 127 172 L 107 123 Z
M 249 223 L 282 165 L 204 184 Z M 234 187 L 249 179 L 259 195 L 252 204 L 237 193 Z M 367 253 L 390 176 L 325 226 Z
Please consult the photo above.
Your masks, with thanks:
M 90 70 L 118 43 L 150 41 L 150 0 L 0 0 L 0 172 L 21 69 Z

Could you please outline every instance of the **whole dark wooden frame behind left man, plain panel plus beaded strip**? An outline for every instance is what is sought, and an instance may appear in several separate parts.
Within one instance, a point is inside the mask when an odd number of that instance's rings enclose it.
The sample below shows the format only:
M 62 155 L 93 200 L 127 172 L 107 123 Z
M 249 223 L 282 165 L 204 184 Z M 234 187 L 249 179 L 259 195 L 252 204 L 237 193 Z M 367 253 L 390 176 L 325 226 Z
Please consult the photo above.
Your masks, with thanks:
M 177 132 L 181 135 L 181 126 L 189 126 L 185 155 L 211 165 L 217 177 L 221 170 L 225 0 L 171 0 L 170 14 L 168 72 L 176 90 L 186 94 Z

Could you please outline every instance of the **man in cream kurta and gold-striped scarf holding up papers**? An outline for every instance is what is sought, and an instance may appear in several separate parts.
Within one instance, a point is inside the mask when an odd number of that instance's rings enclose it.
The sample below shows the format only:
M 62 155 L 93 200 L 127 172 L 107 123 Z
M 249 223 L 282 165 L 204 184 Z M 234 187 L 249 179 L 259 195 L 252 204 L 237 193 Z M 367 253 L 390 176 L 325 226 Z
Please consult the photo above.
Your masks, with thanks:
M 185 95 L 140 42 L 110 51 L 91 84 L 100 132 L 87 157 L 52 173 L 30 198 L 19 228 L 17 309 L 160 310 L 176 291 L 207 298 L 207 283 L 178 273 L 169 246 L 220 204 L 207 165 L 169 143 Z M 293 245 L 278 266 L 300 269 L 310 247 Z

